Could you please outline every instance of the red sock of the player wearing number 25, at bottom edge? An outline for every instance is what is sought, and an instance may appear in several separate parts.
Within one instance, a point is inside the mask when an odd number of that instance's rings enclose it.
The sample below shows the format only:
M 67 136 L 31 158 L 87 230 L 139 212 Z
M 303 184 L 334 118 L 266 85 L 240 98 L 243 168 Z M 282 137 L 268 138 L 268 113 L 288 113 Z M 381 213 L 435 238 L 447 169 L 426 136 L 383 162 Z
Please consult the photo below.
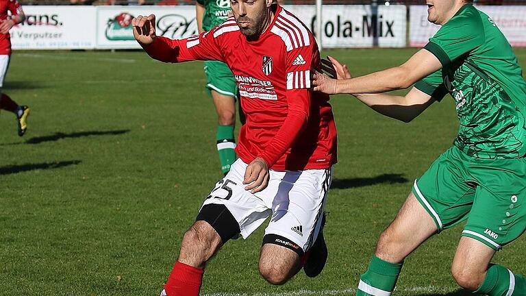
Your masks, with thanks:
M 191 267 L 179 261 L 173 265 L 168 282 L 164 285 L 167 296 L 199 296 L 203 269 Z

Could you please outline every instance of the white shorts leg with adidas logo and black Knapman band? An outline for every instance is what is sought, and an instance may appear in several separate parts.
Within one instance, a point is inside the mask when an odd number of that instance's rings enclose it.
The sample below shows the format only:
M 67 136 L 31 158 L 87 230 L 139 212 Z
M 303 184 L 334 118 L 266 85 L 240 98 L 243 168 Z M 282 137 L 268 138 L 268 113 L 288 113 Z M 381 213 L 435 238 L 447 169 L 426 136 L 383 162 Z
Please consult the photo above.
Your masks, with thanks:
M 264 244 L 279 245 L 302 256 L 321 230 L 332 169 L 287 171 L 271 175 L 273 209 Z

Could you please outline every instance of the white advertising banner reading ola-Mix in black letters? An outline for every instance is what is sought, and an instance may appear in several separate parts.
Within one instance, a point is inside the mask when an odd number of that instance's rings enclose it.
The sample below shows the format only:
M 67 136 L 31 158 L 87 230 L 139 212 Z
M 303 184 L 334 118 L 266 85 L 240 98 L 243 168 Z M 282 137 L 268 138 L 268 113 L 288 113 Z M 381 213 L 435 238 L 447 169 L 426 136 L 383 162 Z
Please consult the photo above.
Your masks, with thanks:
M 286 9 L 315 32 L 315 5 L 289 5 Z M 323 5 L 322 14 L 324 48 L 406 45 L 405 5 Z

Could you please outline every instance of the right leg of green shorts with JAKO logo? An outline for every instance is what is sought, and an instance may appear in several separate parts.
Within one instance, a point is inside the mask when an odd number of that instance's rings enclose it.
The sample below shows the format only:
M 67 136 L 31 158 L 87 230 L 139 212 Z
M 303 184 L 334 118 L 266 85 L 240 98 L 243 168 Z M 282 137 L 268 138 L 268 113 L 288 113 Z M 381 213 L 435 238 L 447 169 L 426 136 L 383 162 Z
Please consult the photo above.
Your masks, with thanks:
M 477 160 L 470 171 L 478 186 L 462 236 L 497 251 L 526 230 L 526 159 Z

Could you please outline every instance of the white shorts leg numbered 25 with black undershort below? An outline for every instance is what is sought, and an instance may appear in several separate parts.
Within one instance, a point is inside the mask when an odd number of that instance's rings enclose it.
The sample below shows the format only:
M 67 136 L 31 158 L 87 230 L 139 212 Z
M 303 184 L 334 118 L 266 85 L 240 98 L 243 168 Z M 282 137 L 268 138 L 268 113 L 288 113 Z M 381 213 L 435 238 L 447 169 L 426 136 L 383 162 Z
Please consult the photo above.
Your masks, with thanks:
M 246 168 L 241 159 L 231 165 L 229 173 L 216 183 L 203 202 L 197 218 L 210 223 L 223 243 L 236 234 L 247 238 L 272 212 L 262 199 L 245 190 Z

